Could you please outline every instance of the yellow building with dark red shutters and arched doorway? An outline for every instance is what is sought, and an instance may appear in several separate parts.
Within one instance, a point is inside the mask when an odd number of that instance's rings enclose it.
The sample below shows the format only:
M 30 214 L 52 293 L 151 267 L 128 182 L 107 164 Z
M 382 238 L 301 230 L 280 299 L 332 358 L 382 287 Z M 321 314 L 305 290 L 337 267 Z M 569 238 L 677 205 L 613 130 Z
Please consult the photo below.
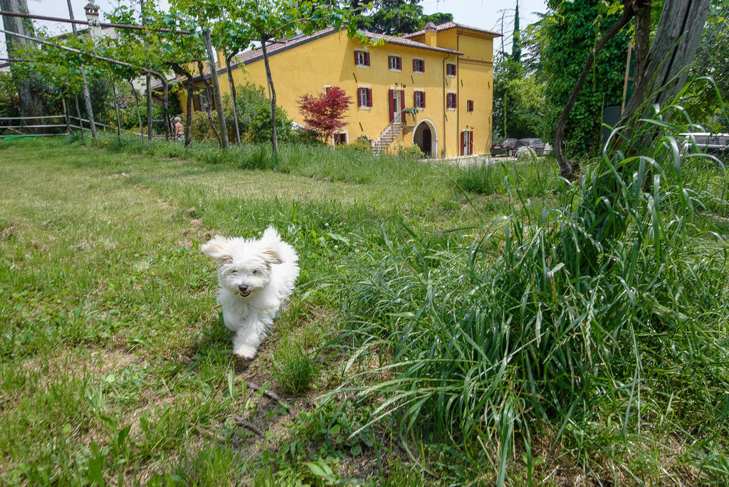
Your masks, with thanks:
M 493 39 L 499 34 L 449 22 L 429 23 L 402 37 L 365 35 L 377 44 L 362 44 L 330 28 L 267 47 L 278 106 L 303 125 L 297 99 L 339 86 L 354 100 L 339 142 L 364 135 L 375 150 L 417 144 L 433 157 L 489 152 Z M 234 62 L 236 85 L 266 86 L 260 50 L 243 52 Z M 217 66 L 217 74 L 220 90 L 228 93 L 225 66 Z M 197 85 L 201 81 L 195 79 Z M 198 95 L 193 101 L 195 109 L 205 103 Z M 410 107 L 418 113 L 406 113 Z

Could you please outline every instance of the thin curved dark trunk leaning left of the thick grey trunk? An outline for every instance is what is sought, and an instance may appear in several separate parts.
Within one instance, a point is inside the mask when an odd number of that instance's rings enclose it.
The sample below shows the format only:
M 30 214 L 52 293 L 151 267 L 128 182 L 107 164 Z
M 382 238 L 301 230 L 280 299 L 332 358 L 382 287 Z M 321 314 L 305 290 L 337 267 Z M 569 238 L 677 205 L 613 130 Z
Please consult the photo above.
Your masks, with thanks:
M 590 70 L 592 69 L 593 61 L 595 60 L 596 55 L 610 39 L 615 37 L 615 35 L 620 32 L 623 27 L 628 25 L 628 22 L 631 21 L 633 15 L 634 11 L 631 7 L 631 0 L 623 0 L 623 15 L 620 16 L 620 19 L 618 19 L 616 23 L 614 23 L 612 26 L 610 26 L 609 29 L 607 29 L 607 32 L 605 32 L 604 36 L 602 36 L 602 39 L 600 39 L 600 41 L 595 46 L 595 49 L 590 51 L 590 55 L 588 55 L 588 59 L 587 61 L 585 61 L 585 66 L 582 66 L 580 78 L 577 79 L 577 84 L 574 85 L 574 88 L 572 88 L 572 93 L 569 94 L 567 104 L 564 106 L 564 109 L 562 109 L 562 113 L 559 116 L 559 120 L 557 121 L 557 128 L 555 130 L 554 154 L 555 157 L 557 157 L 559 172 L 561 176 L 566 179 L 572 179 L 572 174 L 574 174 L 574 172 L 580 168 L 579 163 L 569 162 L 566 157 L 564 157 L 564 152 L 562 152 L 564 129 L 567 125 L 569 112 L 572 110 L 574 102 L 577 101 L 577 96 L 580 96 L 580 90 L 582 90 L 582 85 L 585 85 L 585 80 L 588 78 L 588 74 L 590 74 Z

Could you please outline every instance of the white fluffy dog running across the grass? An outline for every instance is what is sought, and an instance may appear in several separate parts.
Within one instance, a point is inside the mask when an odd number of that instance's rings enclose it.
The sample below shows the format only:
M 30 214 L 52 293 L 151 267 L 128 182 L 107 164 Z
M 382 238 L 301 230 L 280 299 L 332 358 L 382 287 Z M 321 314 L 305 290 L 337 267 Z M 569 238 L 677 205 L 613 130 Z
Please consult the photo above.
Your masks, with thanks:
M 215 235 L 200 246 L 218 265 L 218 303 L 235 332 L 233 354 L 252 359 L 299 276 L 299 257 L 273 227 L 262 238 Z

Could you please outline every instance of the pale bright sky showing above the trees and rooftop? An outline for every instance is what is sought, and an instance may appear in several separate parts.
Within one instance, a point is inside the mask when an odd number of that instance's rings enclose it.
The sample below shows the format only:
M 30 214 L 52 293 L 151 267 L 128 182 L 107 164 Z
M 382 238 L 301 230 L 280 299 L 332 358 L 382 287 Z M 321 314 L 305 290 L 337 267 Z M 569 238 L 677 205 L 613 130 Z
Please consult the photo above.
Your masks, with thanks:
M 49 17 L 69 18 L 69 7 L 66 0 L 26 0 L 28 10 L 36 15 Z M 85 20 L 84 6 L 89 0 L 71 0 L 74 8 L 74 18 Z M 104 12 L 111 12 L 119 4 L 139 4 L 139 0 L 96 0 L 102 21 Z M 453 14 L 453 21 L 467 26 L 483 28 L 487 31 L 500 32 L 502 30 L 502 15 L 504 17 L 504 50 L 511 50 L 511 32 L 514 23 L 514 7 L 516 0 L 423 0 L 421 5 L 426 14 L 435 12 L 449 12 Z M 168 6 L 168 0 L 160 0 L 160 6 Z M 519 21 L 521 28 L 538 20 L 535 12 L 545 12 L 545 0 L 519 0 Z M 68 23 L 42 23 L 48 28 L 49 34 L 62 34 L 71 31 Z M 7 57 L 4 36 L 0 36 L 0 58 Z M 500 47 L 500 46 L 499 46 Z

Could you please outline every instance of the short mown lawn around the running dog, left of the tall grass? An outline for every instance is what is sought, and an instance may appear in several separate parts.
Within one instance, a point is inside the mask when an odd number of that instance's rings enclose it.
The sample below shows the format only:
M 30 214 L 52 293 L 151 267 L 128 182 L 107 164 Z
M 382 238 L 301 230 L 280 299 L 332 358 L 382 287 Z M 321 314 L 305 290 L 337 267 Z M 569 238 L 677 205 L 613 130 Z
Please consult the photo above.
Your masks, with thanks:
M 465 200 L 469 210 L 454 211 L 462 195 L 453 170 L 418 171 L 358 183 L 65 141 L 4 144 L 0 483 L 265 474 L 254 453 L 278 448 L 294 413 L 336 381 L 335 363 L 316 351 L 337 327 L 338 265 L 368 252 L 362 242 L 386 222 L 440 230 L 474 217 Z M 215 302 L 214 264 L 198 246 L 267 225 L 300 252 L 300 285 L 241 369 Z M 247 389 L 286 394 L 302 360 L 313 363 L 303 372 L 313 391 L 289 397 L 291 414 Z M 236 426 L 238 416 L 265 440 Z

